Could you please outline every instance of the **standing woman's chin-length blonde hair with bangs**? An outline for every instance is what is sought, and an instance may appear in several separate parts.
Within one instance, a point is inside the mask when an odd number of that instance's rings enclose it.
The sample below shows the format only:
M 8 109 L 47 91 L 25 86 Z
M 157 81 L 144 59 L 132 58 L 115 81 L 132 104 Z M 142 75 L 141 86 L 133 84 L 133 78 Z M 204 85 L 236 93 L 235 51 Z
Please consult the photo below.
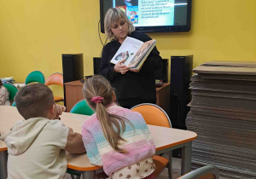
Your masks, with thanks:
M 108 40 L 118 40 L 111 31 L 111 26 L 113 25 L 113 23 L 118 22 L 119 20 L 125 20 L 128 23 L 129 34 L 135 31 L 135 27 L 132 25 L 131 20 L 128 19 L 128 17 L 122 9 L 108 9 L 108 12 L 106 13 L 104 20 L 104 29 Z

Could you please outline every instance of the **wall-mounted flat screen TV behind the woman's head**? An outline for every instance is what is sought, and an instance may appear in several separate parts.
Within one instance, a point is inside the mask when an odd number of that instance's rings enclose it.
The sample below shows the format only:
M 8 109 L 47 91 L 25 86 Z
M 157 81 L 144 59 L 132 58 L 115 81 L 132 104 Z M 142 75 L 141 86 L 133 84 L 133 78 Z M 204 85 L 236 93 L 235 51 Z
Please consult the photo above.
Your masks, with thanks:
M 101 32 L 109 8 L 123 9 L 139 32 L 189 32 L 192 0 L 100 0 Z

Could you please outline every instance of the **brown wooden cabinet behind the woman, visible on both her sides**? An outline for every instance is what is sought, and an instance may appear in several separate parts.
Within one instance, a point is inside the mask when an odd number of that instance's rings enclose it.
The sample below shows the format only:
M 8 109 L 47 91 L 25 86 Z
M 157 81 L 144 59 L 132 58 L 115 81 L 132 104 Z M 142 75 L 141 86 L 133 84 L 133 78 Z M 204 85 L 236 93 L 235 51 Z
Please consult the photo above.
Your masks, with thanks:
M 65 83 L 67 112 L 80 100 L 84 100 L 82 93 L 83 84 L 80 80 Z M 155 88 L 156 105 L 162 107 L 167 114 L 170 111 L 170 83 L 162 84 Z

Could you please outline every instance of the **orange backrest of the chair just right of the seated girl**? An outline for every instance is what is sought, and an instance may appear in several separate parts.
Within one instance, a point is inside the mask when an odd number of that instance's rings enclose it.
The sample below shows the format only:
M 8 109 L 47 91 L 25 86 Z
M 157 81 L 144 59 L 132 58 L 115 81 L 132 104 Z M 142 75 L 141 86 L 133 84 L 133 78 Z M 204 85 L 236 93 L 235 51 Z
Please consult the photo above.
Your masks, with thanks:
M 166 112 L 159 106 L 151 103 L 139 104 L 131 111 L 141 113 L 146 124 L 172 128 L 172 123 Z

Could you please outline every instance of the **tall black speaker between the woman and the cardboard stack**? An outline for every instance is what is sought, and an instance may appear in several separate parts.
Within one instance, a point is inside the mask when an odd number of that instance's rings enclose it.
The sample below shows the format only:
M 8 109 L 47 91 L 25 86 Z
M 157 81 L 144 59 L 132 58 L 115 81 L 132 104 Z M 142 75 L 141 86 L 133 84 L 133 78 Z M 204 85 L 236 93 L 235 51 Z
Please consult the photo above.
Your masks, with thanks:
M 193 69 L 193 55 L 171 56 L 170 119 L 172 127 L 186 130 L 186 117 L 191 101 L 189 90 Z

